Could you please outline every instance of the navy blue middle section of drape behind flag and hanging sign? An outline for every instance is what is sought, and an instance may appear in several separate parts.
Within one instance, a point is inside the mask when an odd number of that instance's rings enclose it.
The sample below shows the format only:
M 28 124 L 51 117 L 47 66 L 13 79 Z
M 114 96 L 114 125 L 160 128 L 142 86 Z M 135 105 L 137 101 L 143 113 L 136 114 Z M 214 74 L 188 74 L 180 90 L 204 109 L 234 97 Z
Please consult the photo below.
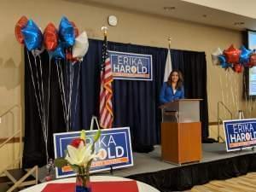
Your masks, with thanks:
M 166 63 L 166 49 L 108 42 L 108 49 L 152 55 L 153 81 L 114 80 L 114 127 L 130 126 L 137 145 L 160 143 L 158 96 Z M 90 49 L 81 68 L 79 104 L 74 130 L 88 128 L 91 116 L 98 114 L 99 75 L 102 41 L 90 40 Z

